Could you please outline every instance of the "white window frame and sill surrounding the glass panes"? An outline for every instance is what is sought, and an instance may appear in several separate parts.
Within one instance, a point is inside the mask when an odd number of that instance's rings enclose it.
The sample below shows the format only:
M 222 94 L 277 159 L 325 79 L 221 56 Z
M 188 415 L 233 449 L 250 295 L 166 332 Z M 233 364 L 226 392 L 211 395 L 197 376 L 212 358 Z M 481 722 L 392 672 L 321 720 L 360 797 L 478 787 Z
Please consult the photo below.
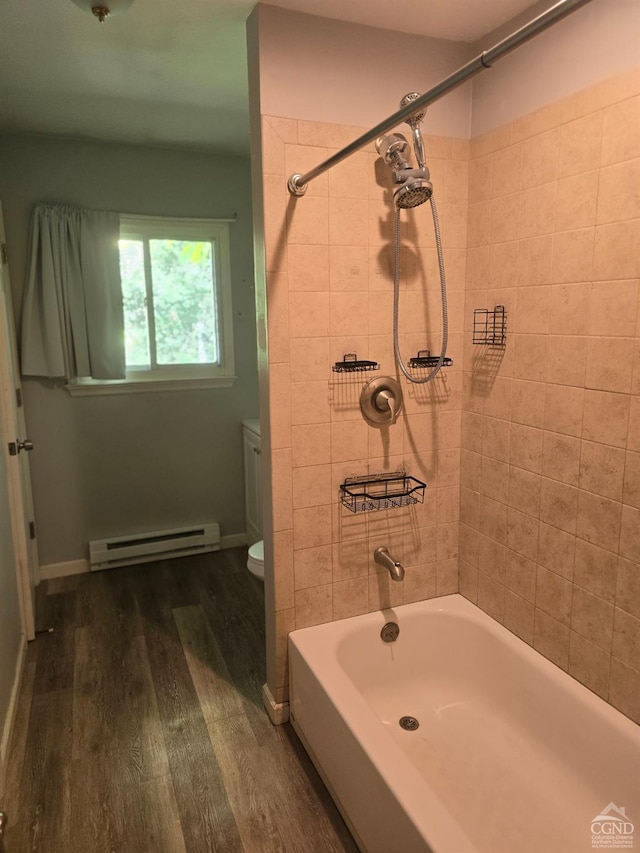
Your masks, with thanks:
M 183 239 L 213 245 L 213 263 L 218 300 L 219 364 L 165 365 L 149 370 L 127 370 L 125 379 L 80 378 L 66 385 L 72 396 L 84 394 L 127 394 L 139 391 L 177 391 L 198 388 L 230 388 L 236 380 L 231 304 L 231 259 L 229 219 L 184 219 L 164 216 L 120 216 L 120 238 Z M 147 254 L 145 249 L 145 255 Z M 146 264 L 146 262 L 145 262 Z M 152 330 L 150 329 L 150 333 Z

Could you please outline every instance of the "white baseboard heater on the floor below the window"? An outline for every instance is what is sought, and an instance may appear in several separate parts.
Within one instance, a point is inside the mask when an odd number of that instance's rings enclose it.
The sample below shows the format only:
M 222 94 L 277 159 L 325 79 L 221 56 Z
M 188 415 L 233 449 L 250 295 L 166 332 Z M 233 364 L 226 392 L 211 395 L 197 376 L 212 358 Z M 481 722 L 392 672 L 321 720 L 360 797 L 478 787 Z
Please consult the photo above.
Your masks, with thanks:
M 93 540 L 89 542 L 89 568 L 95 572 L 219 550 L 220 525 L 216 522 L 176 527 L 173 530 Z

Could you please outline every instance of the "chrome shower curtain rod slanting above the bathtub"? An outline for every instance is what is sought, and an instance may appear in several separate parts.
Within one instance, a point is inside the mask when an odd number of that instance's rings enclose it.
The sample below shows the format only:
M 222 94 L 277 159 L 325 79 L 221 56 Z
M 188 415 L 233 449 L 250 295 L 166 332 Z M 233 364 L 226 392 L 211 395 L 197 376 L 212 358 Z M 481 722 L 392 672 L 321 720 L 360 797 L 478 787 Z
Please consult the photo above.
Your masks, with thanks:
M 324 162 L 320 163 L 319 166 L 316 166 L 314 169 L 310 169 L 308 172 L 305 172 L 304 175 L 300 175 L 298 173 L 291 175 L 287 181 L 289 192 L 291 195 L 304 195 L 307 191 L 309 181 L 313 181 L 314 178 L 319 177 L 324 172 L 333 168 L 333 166 L 337 166 L 337 164 L 342 162 L 346 157 L 351 156 L 351 154 L 354 154 L 360 148 L 368 145 L 369 142 L 373 142 L 374 139 L 382 136 L 388 130 L 396 127 L 396 125 L 402 124 L 402 122 L 408 119 L 409 116 L 413 115 L 413 113 L 418 112 L 419 110 L 429 106 L 429 104 L 432 104 L 434 101 L 437 101 L 443 95 L 446 95 L 447 92 L 450 92 L 452 89 L 455 89 L 457 86 L 466 82 L 470 77 L 473 77 L 480 71 L 484 71 L 485 68 L 491 68 L 492 64 L 496 60 L 501 59 L 505 54 L 515 50 L 515 48 L 519 47 L 523 42 L 528 41 L 538 35 L 538 33 L 555 24 L 557 21 L 560 21 L 562 18 L 565 18 L 581 6 L 586 6 L 586 4 L 590 2 L 591 0 L 560 0 L 559 3 L 555 4 L 555 6 L 547 9 L 546 12 L 543 12 L 541 15 L 538 15 L 537 18 L 529 21 L 528 24 L 520 27 L 519 30 L 511 33 L 510 36 L 507 36 L 507 38 L 498 42 L 494 47 L 483 51 L 479 56 L 476 56 L 475 59 L 472 59 L 470 62 L 467 62 L 466 65 L 458 68 L 458 70 L 454 71 L 453 74 L 445 77 L 444 80 L 436 84 L 432 89 L 429 89 L 429 91 L 425 92 L 424 95 L 416 98 L 416 100 L 412 101 L 408 106 L 393 113 L 393 115 L 389 116 L 389 118 L 384 121 L 381 121 L 380 124 L 377 124 L 371 130 L 367 131 L 367 133 L 363 133 L 362 136 L 354 139 L 353 142 L 342 148 L 336 154 L 333 154 Z

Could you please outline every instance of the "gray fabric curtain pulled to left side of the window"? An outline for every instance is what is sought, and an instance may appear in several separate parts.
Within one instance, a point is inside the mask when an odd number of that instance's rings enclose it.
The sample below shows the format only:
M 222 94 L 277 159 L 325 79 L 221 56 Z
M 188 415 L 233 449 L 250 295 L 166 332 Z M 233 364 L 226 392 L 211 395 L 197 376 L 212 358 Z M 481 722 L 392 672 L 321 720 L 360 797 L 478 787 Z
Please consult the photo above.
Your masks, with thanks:
M 124 379 L 120 216 L 40 204 L 22 306 L 22 373 Z

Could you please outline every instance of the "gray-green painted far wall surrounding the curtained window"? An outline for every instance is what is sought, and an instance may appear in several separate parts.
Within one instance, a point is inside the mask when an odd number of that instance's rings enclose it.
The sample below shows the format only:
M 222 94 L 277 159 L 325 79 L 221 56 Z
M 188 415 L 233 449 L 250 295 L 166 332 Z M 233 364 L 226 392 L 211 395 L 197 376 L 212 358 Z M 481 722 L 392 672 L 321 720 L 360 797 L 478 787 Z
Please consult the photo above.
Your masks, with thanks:
M 250 162 L 208 152 L 0 137 L 0 199 L 20 313 L 39 201 L 155 216 L 229 217 L 236 374 L 231 389 L 70 397 L 24 382 L 40 563 L 90 539 L 218 521 L 244 532 L 243 418 L 258 413 Z M 19 329 L 19 324 L 18 324 Z

